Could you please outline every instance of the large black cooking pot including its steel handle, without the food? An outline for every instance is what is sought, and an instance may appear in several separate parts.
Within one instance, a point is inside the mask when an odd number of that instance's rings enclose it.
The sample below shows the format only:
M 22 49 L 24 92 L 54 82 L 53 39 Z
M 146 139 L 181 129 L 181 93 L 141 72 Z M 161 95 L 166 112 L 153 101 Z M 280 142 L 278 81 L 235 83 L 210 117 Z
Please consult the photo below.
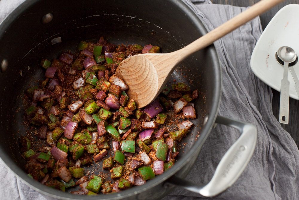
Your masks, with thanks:
M 44 16 L 47 13 L 53 16 Z M 160 46 L 166 53 L 184 47 L 206 32 L 199 18 L 181 1 L 25 1 L 0 25 L 1 159 L 48 199 L 158 199 L 170 193 L 174 184 L 204 196 L 221 193 L 236 181 L 250 160 L 257 130 L 250 124 L 217 117 L 221 72 L 213 45 L 187 58 L 170 78 L 171 82 L 185 81 L 192 89 L 199 89 L 201 95 L 195 101 L 198 118 L 192 120 L 199 126 L 184 138 L 187 145 L 175 165 L 146 184 L 98 196 L 63 193 L 26 175 L 26 161 L 20 156 L 18 146 L 19 136 L 25 133 L 23 91 L 43 78 L 40 59 L 57 58 L 63 50 L 75 50 L 80 40 L 100 36 L 111 43 Z M 62 43 L 52 45 L 51 40 L 57 37 L 61 37 Z M 215 120 L 238 128 L 242 135 L 225 154 L 208 184 L 200 186 L 185 181 L 183 178 L 194 165 Z

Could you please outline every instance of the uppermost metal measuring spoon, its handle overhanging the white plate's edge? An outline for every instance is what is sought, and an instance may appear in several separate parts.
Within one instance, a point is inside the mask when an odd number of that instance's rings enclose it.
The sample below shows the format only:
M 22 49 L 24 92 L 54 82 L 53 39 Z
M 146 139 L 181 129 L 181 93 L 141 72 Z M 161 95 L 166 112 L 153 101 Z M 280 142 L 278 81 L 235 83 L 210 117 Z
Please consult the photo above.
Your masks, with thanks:
M 282 46 L 277 51 L 277 56 L 284 62 L 283 67 L 283 79 L 280 83 L 280 106 L 279 106 L 279 122 L 282 124 L 289 124 L 289 100 L 290 100 L 290 82 L 288 80 L 288 68 L 289 63 L 292 63 L 296 60 L 297 55 L 294 49 L 288 46 Z M 291 67 L 293 72 L 294 68 Z M 291 71 L 292 73 L 292 71 Z M 296 74 L 292 73 L 292 76 L 294 77 Z M 296 76 L 297 78 L 297 76 Z M 294 79 L 295 80 L 295 79 Z M 295 83 L 299 82 L 298 78 L 295 80 Z M 296 83 L 296 84 L 297 84 Z M 298 85 L 297 85 L 298 86 Z M 297 91 L 297 89 L 296 89 Z M 298 90 L 299 91 L 299 90 Z M 297 91 L 297 93 L 298 93 Z

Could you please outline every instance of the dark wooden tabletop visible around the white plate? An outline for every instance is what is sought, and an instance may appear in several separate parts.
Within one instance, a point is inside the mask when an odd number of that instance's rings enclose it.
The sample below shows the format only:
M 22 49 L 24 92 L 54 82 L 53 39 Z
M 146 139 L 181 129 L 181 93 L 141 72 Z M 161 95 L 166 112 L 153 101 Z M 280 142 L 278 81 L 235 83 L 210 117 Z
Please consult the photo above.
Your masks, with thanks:
M 240 7 L 248 7 L 259 0 L 211 0 L 214 4 L 229 4 L 234 6 Z M 266 13 L 260 16 L 261 24 L 263 29 L 267 26 L 270 22 L 272 17 L 287 4 L 299 4 L 299 0 L 287 0 L 281 3 L 280 5 L 272 8 L 271 10 L 267 11 Z M 273 114 L 278 119 L 279 118 L 279 101 L 280 101 L 280 92 L 272 89 L 273 92 L 273 100 L 272 100 L 272 108 Z M 290 133 L 292 138 L 295 140 L 297 147 L 299 148 L 299 101 L 290 98 L 290 109 L 289 109 L 289 124 L 281 124 L 281 126 Z

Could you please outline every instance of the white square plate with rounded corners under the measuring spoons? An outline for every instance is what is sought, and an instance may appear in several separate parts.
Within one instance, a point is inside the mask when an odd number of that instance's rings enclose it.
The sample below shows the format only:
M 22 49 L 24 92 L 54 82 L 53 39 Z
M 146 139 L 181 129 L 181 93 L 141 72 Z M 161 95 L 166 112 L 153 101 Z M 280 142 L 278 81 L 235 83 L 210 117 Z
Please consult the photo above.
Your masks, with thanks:
M 251 55 L 250 65 L 253 73 L 271 88 L 280 92 L 283 79 L 283 66 L 275 59 L 281 46 L 289 46 L 299 56 L 299 5 L 289 4 L 280 9 L 271 19 Z M 299 75 L 299 62 L 294 65 Z M 290 97 L 299 100 L 295 82 L 289 70 Z

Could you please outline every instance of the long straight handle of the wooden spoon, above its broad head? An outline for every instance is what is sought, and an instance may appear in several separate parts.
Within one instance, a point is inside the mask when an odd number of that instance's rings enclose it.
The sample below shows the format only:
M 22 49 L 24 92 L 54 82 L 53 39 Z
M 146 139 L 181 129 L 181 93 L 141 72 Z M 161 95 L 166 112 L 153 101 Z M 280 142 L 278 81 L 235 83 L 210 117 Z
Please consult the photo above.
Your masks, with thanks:
M 175 57 L 180 62 L 192 53 L 209 46 L 219 38 L 225 36 L 226 34 L 230 33 L 231 31 L 235 30 L 236 28 L 240 27 L 246 22 L 249 22 L 251 19 L 266 12 L 271 7 L 274 7 L 275 5 L 283 1 L 285 0 L 261 0 L 258 3 L 254 4 L 252 7 L 245 10 L 244 12 L 238 14 L 234 18 L 228 20 L 227 22 L 210 31 L 209 33 L 205 34 L 204 36 L 200 37 L 199 39 L 185 46 L 184 48 L 179 49 L 173 53 L 175 53 Z

